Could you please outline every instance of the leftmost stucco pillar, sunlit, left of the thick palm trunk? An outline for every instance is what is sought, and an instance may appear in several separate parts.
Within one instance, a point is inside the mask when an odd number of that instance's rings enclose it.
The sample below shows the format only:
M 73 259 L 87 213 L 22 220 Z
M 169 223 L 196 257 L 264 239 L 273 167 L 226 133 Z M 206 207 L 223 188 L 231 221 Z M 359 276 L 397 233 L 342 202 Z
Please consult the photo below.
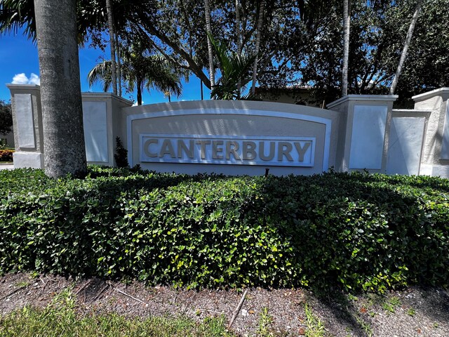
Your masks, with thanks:
M 14 168 L 43 169 L 41 90 L 36 84 L 7 84 L 11 92 Z

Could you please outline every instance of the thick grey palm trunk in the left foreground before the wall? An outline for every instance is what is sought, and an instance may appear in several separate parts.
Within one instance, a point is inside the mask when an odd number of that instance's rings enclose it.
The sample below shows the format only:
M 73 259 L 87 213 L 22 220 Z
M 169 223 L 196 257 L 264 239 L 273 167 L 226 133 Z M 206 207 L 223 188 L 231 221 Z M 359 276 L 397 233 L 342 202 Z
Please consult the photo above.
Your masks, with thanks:
M 87 173 L 76 43 L 76 1 L 35 0 L 44 167 L 60 178 Z

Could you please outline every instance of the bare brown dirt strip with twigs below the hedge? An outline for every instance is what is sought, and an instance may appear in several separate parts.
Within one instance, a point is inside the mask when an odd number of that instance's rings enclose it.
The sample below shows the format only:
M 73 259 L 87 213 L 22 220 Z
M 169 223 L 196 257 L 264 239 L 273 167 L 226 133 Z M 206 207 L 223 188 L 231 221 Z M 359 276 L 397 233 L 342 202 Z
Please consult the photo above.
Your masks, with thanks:
M 242 298 L 242 291 L 192 291 L 19 273 L 0 277 L 0 316 L 24 305 L 45 307 L 67 288 L 76 294 L 80 315 L 116 312 L 144 318 L 184 315 L 196 320 L 225 315 L 230 322 Z M 311 314 L 305 312 L 306 305 Z M 304 289 L 248 289 L 230 330 L 238 336 L 257 336 L 260 326 L 269 327 L 272 336 L 301 336 L 307 329 L 323 329 L 323 335 L 316 336 L 449 336 L 449 292 L 411 288 L 384 296 L 333 293 L 317 297 Z

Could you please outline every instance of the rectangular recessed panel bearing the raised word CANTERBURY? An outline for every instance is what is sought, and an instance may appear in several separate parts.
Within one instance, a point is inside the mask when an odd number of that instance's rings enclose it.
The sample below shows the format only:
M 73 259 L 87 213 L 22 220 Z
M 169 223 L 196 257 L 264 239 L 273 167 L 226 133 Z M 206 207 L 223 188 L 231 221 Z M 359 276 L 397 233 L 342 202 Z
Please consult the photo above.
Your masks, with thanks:
M 313 137 L 140 134 L 140 161 L 314 166 Z

